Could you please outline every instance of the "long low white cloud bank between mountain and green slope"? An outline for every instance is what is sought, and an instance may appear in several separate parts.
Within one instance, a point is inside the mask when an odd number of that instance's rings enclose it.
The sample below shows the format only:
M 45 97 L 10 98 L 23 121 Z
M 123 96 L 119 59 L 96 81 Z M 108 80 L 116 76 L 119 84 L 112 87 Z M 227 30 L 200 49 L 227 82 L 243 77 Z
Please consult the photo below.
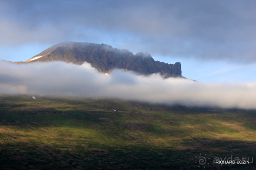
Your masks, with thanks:
M 120 98 L 185 106 L 256 109 L 256 82 L 202 83 L 125 70 L 99 73 L 88 63 L 13 64 L 0 62 L 0 94 Z

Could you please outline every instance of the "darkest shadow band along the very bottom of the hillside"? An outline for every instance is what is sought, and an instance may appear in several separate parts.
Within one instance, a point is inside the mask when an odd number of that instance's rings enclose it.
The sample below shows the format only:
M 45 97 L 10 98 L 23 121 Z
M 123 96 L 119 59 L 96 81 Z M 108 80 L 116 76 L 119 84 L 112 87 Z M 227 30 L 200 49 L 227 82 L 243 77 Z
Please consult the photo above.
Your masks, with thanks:
M 18 140 L 18 139 L 16 139 Z M 202 139 L 197 139 L 198 141 Z M 204 139 L 210 140 L 210 139 Z M 101 148 L 81 145 L 72 149 L 37 143 L 4 143 L 0 145 L 3 169 L 255 169 L 256 143 L 215 140 L 201 148 L 157 149 L 148 146 Z M 249 164 L 216 164 L 214 160 L 249 160 Z M 206 162 L 199 162 L 206 161 Z

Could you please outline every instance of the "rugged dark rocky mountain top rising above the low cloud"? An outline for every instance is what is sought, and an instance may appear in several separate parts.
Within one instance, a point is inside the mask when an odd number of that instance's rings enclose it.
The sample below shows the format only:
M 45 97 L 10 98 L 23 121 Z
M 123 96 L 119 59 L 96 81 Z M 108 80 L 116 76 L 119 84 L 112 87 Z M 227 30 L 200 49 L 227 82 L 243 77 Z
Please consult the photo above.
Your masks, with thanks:
M 63 42 L 42 51 L 25 63 L 65 61 L 67 63 L 90 63 L 103 73 L 118 69 L 134 71 L 138 74 L 160 73 L 165 78 L 180 77 L 181 64 L 166 64 L 154 61 L 151 55 L 140 52 L 133 55 L 126 49 L 113 48 L 110 45 L 95 43 Z

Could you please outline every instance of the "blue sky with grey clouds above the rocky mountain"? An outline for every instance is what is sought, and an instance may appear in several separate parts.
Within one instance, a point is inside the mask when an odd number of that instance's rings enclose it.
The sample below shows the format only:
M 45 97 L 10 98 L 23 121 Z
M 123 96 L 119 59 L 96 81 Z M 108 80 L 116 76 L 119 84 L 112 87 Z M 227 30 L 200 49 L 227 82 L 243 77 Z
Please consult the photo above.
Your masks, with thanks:
M 0 0 L 0 60 L 63 42 L 104 43 L 182 64 L 201 82 L 254 82 L 256 2 Z

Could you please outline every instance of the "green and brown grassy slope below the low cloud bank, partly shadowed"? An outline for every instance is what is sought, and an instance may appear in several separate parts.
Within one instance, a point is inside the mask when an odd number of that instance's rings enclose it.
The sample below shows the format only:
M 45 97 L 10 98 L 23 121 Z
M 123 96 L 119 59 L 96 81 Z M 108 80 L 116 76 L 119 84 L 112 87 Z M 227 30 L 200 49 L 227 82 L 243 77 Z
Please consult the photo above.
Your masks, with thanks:
M 2 169 L 190 169 L 198 168 L 201 153 L 210 158 L 206 168 L 255 169 L 255 163 L 213 163 L 214 157 L 256 156 L 255 123 L 255 110 L 1 96 L 0 164 Z

